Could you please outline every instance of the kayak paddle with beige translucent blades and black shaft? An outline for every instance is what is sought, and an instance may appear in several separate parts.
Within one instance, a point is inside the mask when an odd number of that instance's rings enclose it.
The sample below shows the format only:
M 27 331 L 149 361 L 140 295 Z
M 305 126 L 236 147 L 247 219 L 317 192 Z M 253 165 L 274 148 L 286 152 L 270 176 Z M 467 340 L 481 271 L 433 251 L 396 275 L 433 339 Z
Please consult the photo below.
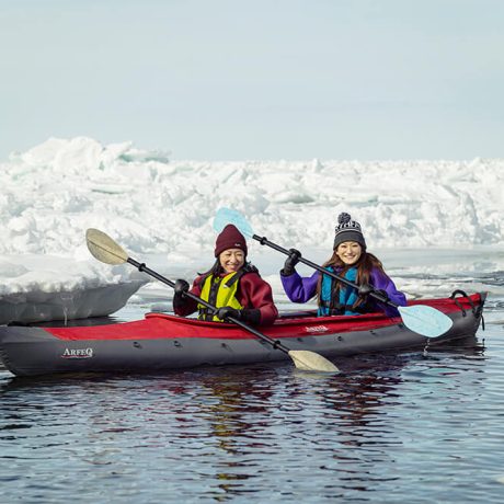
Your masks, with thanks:
M 165 278 L 164 276 L 160 275 L 159 273 L 150 270 L 145 265 L 145 263 L 139 263 L 134 259 L 129 257 L 125 250 L 121 248 L 111 237 L 105 234 L 103 231 L 98 229 L 88 229 L 85 232 L 85 241 L 88 243 L 88 249 L 91 254 L 105 264 L 123 264 L 129 263 L 137 267 L 140 272 L 145 272 L 150 276 L 153 276 L 156 279 L 162 282 L 163 284 L 169 285 L 170 287 L 174 288 L 175 283 Z M 209 302 L 205 301 L 204 299 L 199 298 L 198 296 L 192 293 L 185 293 L 190 299 L 193 299 L 196 302 L 209 308 L 214 311 L 217 311 L 217 307 L 210 305 Z M 240 328 L 249 331 L 250 333 L 254 334 L 262 341 L 270 343 L 273 348 L 279 350 L 287 354 L 294 362 L 295 366 L 298 369 L 302 369 L 306 371 L 324 371 L 324 373 L 336 373 L 339 371 L 337 367 L 334 366 L 330 360 L 321 355 L 305 351 L 305 350 L 289 350 L 284 344 L 282 344 L 278 340 L 273 340 L 266 334 L 263 334 L 251 328 L 250 325 L 245 324 L 241 320 L 234 319 L 233 317 L 227 317 L 226 320 L 239 325 Z

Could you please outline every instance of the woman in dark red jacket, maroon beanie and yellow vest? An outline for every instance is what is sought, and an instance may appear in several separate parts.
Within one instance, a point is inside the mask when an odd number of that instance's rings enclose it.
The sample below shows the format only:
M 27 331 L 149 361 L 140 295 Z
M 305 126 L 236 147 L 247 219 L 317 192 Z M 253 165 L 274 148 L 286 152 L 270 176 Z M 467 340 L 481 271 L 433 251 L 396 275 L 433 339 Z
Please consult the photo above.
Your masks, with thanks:
M 192 294 L 217 307 L 217 312 L 187 298 L 190 286 L 184 279 L 175 282 L 173 311 L 187 316 L 197 310 L 201 320 L 215 322 L 233 317 L 254 325 L 272 324 L 278 316 L 272 288 L 247 262 L 247 253 L 243 234 L 233 225 L 226 226 L 217 237 L 214 266 L 199 275 L 191 288 Z

